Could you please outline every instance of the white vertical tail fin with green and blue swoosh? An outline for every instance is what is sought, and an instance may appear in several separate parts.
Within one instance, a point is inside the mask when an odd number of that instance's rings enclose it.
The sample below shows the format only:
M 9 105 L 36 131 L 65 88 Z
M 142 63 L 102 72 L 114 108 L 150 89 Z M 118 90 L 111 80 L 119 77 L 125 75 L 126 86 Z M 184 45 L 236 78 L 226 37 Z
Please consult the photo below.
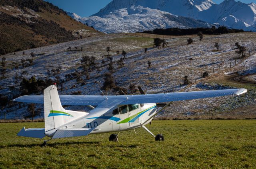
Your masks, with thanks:
M 57 86 L 44 89 L 44 125 L 45 132 L 58 128 L 88 113 L 65 110 L 60 102 Z

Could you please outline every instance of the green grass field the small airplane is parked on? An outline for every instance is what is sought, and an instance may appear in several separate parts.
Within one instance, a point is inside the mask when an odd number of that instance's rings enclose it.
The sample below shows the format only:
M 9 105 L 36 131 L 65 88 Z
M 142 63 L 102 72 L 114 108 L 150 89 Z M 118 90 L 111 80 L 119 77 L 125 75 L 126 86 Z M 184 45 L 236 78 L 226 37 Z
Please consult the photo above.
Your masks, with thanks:
M 0 124 L 0 168 L 256 168 L 256 120 L 154 120 L 143 128 L 51 140 L 22 138 L 17 132 L 44 123 Z

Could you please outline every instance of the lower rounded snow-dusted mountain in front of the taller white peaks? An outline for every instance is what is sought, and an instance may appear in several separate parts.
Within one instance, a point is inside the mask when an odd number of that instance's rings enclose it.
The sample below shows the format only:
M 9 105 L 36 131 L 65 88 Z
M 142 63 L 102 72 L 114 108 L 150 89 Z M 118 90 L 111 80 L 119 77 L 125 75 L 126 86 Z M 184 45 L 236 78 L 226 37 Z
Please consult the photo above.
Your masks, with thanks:
M 102 18 L 99 16 L 80 18 L 79 21 L 86 23 L 89 26 L 93 26 L 97 30 L 108 33 L 115 31 L 136 32 L 156 28 L 210 26 L 210 24 L 192 18 L 176 16 L 168 12 L 142 6 L 118 9 L 104 15 Z

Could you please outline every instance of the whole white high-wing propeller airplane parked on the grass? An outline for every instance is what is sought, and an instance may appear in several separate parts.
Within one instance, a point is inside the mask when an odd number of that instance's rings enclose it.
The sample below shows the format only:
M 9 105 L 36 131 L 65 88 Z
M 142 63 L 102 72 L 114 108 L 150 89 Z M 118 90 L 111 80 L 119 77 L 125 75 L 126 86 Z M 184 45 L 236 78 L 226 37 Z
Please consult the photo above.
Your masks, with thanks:
M 155 137 L 156 141 L 164 141 L 162 134 L 154 135 L 146 124 L 173 101 L 210 98 L 246 93 L 244 88 L 228 90 L 207 90 L 195 92 L 176 92 L 122 96 L 59 96 L 56 84 L 44 90 L 44 96 L 21 96 L 16 102 L 44 104 L 44 128 L 25 127 L 18 136 L 51 139 L 87 136 L 107 132 L 120 133 L 143 127 Z M 165 103 L 157 110 L 156 103 Z M 89 106 L 90 112 L 65 110 L 62 105 Z M 94 108 L 96 106 L 96 108 Z M 134 130 L 135 131 L 135 130 Z M 118 141 L 118 134 L 112 134 L 110 141 Z M 50 139 L 50 140 L 51 140 Z M 44 145 L 49 140 L 44 141 Z

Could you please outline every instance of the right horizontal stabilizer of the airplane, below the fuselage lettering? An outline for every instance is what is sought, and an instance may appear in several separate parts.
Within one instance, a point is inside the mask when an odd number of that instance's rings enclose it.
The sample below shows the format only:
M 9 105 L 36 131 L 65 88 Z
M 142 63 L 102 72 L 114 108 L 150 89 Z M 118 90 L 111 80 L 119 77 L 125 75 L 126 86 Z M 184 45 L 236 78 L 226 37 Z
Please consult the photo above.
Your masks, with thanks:
M 93 130 L 94 128 L 66 128 L 62 130 L 57 130 L 52 138 L 70 138 L 87 136 Z

